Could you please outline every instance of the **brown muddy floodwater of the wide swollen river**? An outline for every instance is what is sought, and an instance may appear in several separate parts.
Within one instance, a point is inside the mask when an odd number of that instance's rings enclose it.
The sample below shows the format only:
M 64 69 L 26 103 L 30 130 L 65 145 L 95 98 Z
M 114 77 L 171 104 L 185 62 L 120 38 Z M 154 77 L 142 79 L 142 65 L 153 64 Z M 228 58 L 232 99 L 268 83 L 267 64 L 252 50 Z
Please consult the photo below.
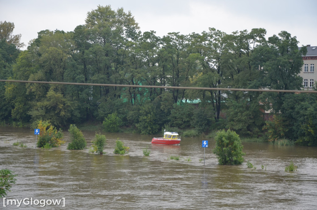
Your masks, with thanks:
M 243 143 L 245 162 L 223 166 L 209 140 L 204 165 L 205 139 L 153 145 L 154 135 L 102 133 L 107 145 L 100 155 L 67 150 L 64 134 L 64 145 L 46 150 L 35 148 L 34 130 L 0 127 L 0 169 L 18 174 L 0 209 L 317 209 L 317 148 Z M 89 148 L 95 132 L 83 134 Z M 113 154 L 117 138 L 130 147 L 128 154 Z M 13 146 L 16 141 L 27 147 Z M 142 152 L 146 147 L 148 157 Z M 290 161 L 297 171 L 285 172 Z M 64 198 L 65 207 L 7 205 L 8 199 L 25 198 Z

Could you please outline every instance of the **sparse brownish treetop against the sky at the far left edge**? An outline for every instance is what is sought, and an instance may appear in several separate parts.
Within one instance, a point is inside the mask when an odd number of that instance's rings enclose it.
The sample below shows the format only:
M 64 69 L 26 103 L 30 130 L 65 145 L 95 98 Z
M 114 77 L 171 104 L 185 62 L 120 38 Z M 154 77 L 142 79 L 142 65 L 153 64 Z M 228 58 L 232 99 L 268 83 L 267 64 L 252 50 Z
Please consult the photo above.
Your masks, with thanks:
M 0 41 L 5 40 L 8 44 L 14 44 L 17 49 L 24 47 L 24 43 L 20 43 L 21 34 L 13 35 L 14 23 L 0 21 Z

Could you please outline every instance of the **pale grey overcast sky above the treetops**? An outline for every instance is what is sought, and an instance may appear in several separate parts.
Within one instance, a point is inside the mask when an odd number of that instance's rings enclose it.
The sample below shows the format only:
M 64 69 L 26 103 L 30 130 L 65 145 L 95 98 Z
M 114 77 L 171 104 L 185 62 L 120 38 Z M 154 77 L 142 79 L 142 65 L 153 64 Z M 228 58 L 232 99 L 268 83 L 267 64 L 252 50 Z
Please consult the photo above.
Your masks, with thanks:
M 73 31 L 98 5 L 131 11 L 142 32 L 154 30 L 161 37 L 264 28 L 267 37 L 285 30 L 299 46 L 317 46 L 316 0 L 0 0 L 0 21 L 13 22 L 13 34 L 21 34 L 27 45 L 41 30 Z

